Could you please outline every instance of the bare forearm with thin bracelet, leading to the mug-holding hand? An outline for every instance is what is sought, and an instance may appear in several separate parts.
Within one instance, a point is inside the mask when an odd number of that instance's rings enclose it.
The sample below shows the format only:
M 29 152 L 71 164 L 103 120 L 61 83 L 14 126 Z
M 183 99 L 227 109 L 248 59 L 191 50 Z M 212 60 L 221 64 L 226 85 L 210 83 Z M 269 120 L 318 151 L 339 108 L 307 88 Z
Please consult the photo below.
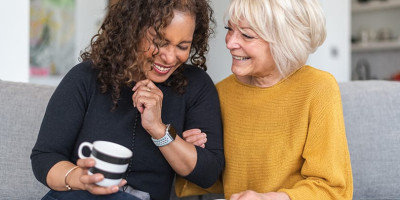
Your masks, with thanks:
M 65 175 L 69 170 L 74 168 L 76 165 L 69 161 L 60 161 L 55 164 L 47 174 L 46 182 L 47 185 L 57 191 L 66 191 L 68 190 L 66 187 L 66 183 L 72 189 L 82 189 L 83 184 L 79 181 L 79 174 L 82 174 L 81 168 L 76 168 L 71 171 L 67 178 L 65 179 Z

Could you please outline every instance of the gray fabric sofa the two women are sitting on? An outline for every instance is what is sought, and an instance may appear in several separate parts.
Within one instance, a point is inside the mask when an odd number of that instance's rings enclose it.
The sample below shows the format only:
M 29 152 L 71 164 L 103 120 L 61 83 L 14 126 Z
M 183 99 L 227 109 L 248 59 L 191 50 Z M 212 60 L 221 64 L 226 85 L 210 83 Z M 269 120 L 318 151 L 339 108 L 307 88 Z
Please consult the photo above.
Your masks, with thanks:
M 346 82 L 340 88 L 354 199 L 400 199 L 400 83 Z M 29 155 L 53 91 L 0 81 L 1 200 L 40 199 L 48 191 L 34 178 Z

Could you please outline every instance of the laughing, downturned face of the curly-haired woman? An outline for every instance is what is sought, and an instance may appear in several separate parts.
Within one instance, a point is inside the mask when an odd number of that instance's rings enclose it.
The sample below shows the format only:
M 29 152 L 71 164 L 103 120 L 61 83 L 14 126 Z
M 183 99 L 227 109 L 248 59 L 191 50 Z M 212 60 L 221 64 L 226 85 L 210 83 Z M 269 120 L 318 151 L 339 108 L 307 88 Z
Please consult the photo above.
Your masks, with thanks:
M 146 78 L 153 82 L 161 83 L 189 58 L 190 48 L 195 30 L 195 17 L 185 12 L 174 11 L 174 18 L 164 30 L 165 41 L 160 43 L 158 53 L 152 63 L 143 67 Z M 147 59 L 152 58 L 153 52 L 157 52 L 156 46 L 152 43 L 156 34 L 149 29 L 148 39 L 143 38 L 141 49 Z M 156 39 L 157 41 L 157 39 Z

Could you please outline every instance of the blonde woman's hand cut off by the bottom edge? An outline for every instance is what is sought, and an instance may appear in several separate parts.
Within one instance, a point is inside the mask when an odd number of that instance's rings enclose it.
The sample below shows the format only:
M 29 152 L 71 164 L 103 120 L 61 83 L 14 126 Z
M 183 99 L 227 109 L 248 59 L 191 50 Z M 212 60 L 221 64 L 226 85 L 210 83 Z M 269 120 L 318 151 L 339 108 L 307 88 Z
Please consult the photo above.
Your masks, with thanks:
M 290 200 L 284 192 L 257 193 L 253 190 L 246 190 L 233 194 L 230 200 Z

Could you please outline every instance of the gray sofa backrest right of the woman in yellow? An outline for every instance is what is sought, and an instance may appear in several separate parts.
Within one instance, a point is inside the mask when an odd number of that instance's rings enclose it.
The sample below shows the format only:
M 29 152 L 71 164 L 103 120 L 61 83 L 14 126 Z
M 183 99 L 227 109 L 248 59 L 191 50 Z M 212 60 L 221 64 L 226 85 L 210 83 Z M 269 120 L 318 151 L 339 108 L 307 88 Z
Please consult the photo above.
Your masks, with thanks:
M 340 83 L 353 199 L 400 199 L 400 82 Z

